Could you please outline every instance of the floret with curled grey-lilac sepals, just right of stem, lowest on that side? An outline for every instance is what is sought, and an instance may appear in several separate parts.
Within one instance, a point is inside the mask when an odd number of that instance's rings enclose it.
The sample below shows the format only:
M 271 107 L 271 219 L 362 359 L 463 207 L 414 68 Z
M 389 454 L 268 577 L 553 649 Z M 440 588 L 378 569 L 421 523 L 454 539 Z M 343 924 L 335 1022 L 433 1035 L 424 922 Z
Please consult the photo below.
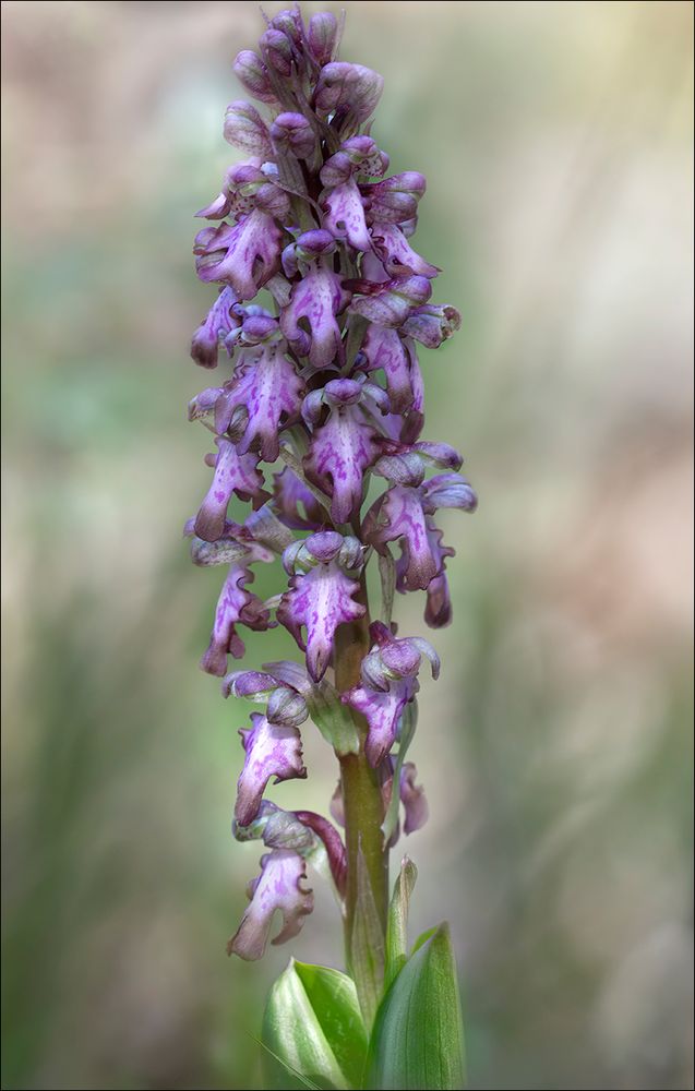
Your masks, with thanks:
M 432 667 L 432 678 L 439 675 L 436 652 L 420 637 L 396 639 L 381 622 L 370 627 L 374 645 L 362 660 L 362 680 L 343 694 L 343 700 L 367 719 L 366 753 L 376 767 L 391 750 L 403 711 L 420 688 L 417 675 L 422 656 Z

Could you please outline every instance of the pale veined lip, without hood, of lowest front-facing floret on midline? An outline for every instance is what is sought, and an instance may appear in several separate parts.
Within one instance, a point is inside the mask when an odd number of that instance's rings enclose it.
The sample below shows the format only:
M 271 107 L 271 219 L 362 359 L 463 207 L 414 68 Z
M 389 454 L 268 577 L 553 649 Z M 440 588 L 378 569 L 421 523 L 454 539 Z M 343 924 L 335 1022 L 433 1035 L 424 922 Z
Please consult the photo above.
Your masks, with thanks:
M 326 672 L 339 625 L 362 618 L 366 608 L 352 596 L 359 583 L 349 579 L 335 561 L 317 564 L 305 575 L 298 573 L 289 582 L 277 608 L 277 620 L 307 651 L 307 668 L 314 682 Z M 302 626 L 307 639 L 302 638 Z

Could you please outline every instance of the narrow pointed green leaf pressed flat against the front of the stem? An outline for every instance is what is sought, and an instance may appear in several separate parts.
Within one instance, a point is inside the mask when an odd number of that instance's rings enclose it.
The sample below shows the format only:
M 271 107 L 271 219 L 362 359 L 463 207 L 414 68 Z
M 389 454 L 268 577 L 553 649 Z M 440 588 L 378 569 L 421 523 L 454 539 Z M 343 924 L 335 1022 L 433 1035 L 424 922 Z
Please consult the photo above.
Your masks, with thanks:
M 371 1029 L 384 983 L 384 933 L 360 849 L 357 854 L 357 902 L 350 936 L 350 967 L 364 1024 Z

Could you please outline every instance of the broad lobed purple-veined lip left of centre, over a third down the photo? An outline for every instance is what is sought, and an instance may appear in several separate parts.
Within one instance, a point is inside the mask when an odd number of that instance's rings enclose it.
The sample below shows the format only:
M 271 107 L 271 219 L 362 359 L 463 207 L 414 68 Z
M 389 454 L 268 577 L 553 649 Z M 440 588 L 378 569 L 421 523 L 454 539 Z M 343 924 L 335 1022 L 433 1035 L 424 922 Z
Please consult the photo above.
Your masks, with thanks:
M 304 384 L 285 356 L 284 343 L 271 341 L 244 352 L 226 400 L 229 419 L 235 408 L 247 410 L 247 427 L 237 443 L 239 454 L 253 448 L 264 461 L 274 463 L 279 433 L 299 419 L 303 396 Z

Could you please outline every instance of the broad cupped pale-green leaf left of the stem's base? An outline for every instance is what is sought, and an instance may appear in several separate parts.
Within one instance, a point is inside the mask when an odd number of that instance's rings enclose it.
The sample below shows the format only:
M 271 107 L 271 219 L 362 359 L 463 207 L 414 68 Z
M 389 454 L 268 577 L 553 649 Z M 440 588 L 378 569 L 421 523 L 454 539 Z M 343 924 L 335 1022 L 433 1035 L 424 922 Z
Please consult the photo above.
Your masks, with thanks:
M 271 990 L 262 1039 L 267 1088 L 359 1087 L 367 1031 L 355 982 L 291 959 Z

